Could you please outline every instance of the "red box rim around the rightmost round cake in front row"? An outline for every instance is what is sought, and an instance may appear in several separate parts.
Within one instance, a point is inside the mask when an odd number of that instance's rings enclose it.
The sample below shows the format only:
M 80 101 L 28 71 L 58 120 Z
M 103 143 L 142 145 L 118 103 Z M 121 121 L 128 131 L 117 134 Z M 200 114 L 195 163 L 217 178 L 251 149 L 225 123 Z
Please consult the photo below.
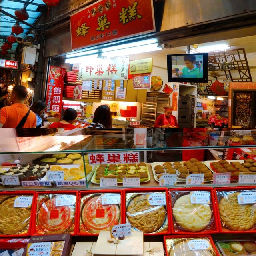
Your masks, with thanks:
M 241 192 L 242 190 L 255 190 L 255 186 L 241 186 L 241 187 L 226 187 L 226 188 L 214 188 L 214 195 L 215 195 L 215 201 L 216 201 L 216 210 L 217 210 L 217 217 L 218 217 L 218 225 L 219 225 L 219 230 L 221 233 L 237 233 L 237 234 L 243 234 L 243 233 L 256 233 L 256 224 L 251 230 L 230 230 L 228 228 L 225 228 L 222 226 L 222 222 L 220 220 L 220 211 L 218 207 L 218 202 L 222 196 L 218 195 L 218 192 L 229 192 L 229 191 L 235 191 L 235 192 Z M 256 192 L 256 191 L 254 191 Z M 255 205 L 255 204 L 254 204 Z

